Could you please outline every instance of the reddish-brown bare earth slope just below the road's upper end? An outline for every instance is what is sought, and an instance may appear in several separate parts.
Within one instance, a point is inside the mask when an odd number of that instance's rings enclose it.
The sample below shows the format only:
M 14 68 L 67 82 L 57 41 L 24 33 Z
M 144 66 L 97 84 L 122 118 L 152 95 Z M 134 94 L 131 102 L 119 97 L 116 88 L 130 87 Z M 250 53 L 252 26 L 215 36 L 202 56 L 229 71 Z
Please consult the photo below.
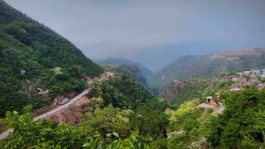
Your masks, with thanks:
M 48 116 L 47 119 L 57 123 L 77 124 L 83 118 L 84 113 L 94 110 L 90 104 L 90 99 L 82 97 L 68 107 Z

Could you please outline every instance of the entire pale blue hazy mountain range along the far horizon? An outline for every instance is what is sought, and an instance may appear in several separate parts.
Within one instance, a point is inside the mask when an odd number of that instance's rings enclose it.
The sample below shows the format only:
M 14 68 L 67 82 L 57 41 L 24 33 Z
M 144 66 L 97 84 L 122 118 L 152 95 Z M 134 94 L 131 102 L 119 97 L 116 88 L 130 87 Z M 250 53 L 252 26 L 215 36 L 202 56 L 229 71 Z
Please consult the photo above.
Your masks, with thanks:
M 101 42 L 90 46 L 79 45 L 93 59 L 106 57 L 126 58 L 142 63 L 152 71 L 159 71 L 183 55 L 201 55 L 224 49 L 233 49 L 233 44 L 215 41 L 190 41 L 157 45 L 124 45 L 116 42 Z M 93 51 L 97 51 L 97 53 Z

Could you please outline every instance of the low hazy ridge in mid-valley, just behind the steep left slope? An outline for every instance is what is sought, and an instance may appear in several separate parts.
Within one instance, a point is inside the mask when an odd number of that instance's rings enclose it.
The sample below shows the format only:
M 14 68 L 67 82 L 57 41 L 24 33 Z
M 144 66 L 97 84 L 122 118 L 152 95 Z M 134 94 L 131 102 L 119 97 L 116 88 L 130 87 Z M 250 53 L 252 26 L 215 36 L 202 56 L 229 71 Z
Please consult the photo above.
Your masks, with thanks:
M 98 65 L 102 65 L 102 66 L 107 66 L 107 65 L 120 65 L 120 64 L 124 64 L 124 65 L 135 65 L 137 67 L 139 67 L 141 74 L 147 78 L 151 75 L 154 75 L 154 72 L 152 72 L 149 68 L 145 67 L 142 63 L 139 62 L 134 62 L 131 61 L 129 59 L 125 59 L 125 58 L 107 58 L 107 59 L 99 59 L 99 60 L 94 60 L 95 63 L 97 63 Z

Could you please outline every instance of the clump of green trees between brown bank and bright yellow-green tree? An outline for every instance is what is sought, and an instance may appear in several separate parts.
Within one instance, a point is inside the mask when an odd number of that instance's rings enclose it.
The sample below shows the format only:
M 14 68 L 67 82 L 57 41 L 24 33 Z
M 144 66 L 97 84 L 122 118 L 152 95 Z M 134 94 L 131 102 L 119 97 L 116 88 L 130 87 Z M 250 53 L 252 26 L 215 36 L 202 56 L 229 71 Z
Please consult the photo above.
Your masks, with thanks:
M 157 99 L 140 104 L 135 110 L 123 110 L 109 105 L 95 112 L 86 113 L 85 120 L 79 123 L 86 129 L 100 132 L 103 136 L 112 131 L 119 133 L 121 138 L 130 135 L 131 130 L 139 130 L 143 136 L 153 138 L 166 136 L 167 116 L 164 110 L 167 104 Z

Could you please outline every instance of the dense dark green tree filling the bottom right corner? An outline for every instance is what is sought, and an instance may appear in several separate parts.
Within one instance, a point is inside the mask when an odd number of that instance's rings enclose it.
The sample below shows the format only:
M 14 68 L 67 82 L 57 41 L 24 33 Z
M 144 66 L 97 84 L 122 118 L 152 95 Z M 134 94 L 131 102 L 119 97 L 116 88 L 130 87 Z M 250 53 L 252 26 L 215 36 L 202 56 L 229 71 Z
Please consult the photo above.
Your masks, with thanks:
M 265 147 L 265 90 L 245 88 L 225 100 L 225 110 L 209 124 L 208 140 L 216 149 Z

